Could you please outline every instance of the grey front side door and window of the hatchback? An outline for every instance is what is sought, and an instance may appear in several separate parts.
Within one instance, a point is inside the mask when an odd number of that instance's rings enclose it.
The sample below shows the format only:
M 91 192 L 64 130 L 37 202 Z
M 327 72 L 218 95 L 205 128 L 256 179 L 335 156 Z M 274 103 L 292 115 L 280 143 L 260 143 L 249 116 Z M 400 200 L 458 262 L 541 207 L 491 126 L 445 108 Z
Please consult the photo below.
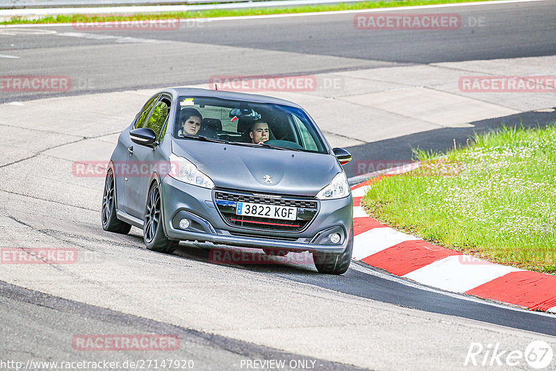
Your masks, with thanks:
M 147 115 L 138 119 L 137 128 L 145 127 L 154 130 L 158 142 L 163 137 L 165 122 L 170 113 L 170 98 L 161 95 L 153 102 L 152 108 Z M 142 219 L 145 216 L 145 204 L 147 192 L 149 191 L 149 180 L 154 169 L 161 161 L 157 155 L 158 147 L 147 147 L 133 143 L 129 149 L 126 168 L 129 170 L 126 176 L 126 212 Z

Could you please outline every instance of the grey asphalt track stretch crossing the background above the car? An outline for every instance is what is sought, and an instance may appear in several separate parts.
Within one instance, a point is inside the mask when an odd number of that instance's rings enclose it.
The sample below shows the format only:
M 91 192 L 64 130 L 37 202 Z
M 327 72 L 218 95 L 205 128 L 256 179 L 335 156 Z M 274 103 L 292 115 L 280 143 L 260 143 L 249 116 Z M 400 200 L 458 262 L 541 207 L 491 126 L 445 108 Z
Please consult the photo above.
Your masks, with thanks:
M 348 13 L 185 22 L 176 31 L 94 32 L 63 26 L 38 27 L 58 34 L 33 35 L 32 28 L 20 33 L 0 29 L 2 54 L 33 51 L 30 58 L 17 63 L 0 58 L 0 67 L 3 74 L 40 70 L 81 77 L 83 88 L 78 93 L 83 94 L 205 83 L 215 74 L 316 74 L 404 64 L 551 56 L 556 52 L 554 1 L 404 10 L 406 13 L 457 14 L 462 24 L 450 31 L 357 30 L 353 26 L 354 14 Z M 468 26 L 475 22 L 483 26 Z M 75 35 L 89 31 L 94 35 Z M 24 32 L 30 34 L 23 37 Z M 114 40 L 113 36 L 131 40 Z M 147 46 L 138 40 L 150 42 Z M 163 53 L 156 49 L 157 41 L 179 43 L 161 43 L 165 47 Z M 111 52 L 115 43 L 119 43 L 117 59 Z M 213 46 L 210 53 L 206 53 L 206 44 Z M 94 49 L 87 49 L 90 47 Z M 228 56 L 224 47 L 240 49 Z M 289 58 L 277 54 L 272 60 L 272 55 L 267 58 L 264 51 L 294 54 Z M 298 54 L 320 58 L 304 60 L 297 58 Z M 85 86 L 88 79 L 97 81 L 97 86 Z M 37 97 L 40 94 L 32 93 L 1 97 L 1 101 Z

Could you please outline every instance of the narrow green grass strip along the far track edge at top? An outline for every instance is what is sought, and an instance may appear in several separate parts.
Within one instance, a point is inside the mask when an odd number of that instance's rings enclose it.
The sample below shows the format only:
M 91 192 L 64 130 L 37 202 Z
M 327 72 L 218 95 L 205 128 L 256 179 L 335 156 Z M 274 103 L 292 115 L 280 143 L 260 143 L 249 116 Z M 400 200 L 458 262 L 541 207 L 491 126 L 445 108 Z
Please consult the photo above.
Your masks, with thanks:
M 363 10 L 372 8 L 392 8 L 396 6 L 420 6 L 430 4 L 445 3 L 470 3 L 486 0 L 393 0 L 393 1 L 363 1 L 360 3 L 338 3 L 332 5 L 316 6 L 294 6 L 290 8 L 246 8 L 246 9 L 225 9 L 225 10 L 202 10 L 197 12 L 174 12 L 156 14 L 135 14 L 135 15 L 57 15 L 55 17 L 41 17 L 40 19 L 14 18 L 0 24 L 49 24 L 49 23 L 72 23 L 76 17 L 79 22 L 83 17 L 88 22 L 111 22 L 111 21 L 130 21 L 138 19 L 175 19 L 175 18 L 207 18 L 207 17 L 236 17 L 240 15 L 266 15 L 266 14 L 285 14 L 285 13 L 311 13 L 328 12 L 333 10 Z

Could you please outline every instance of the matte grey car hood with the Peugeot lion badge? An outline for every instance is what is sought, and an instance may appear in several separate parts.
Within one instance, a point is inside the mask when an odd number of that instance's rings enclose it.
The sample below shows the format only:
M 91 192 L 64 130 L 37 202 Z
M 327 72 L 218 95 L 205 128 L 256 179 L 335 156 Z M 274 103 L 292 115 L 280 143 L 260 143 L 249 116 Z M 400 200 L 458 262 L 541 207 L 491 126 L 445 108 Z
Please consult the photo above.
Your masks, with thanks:
M 330 154 L 200 140 L 176 140 L 172 142 L 172 151 L 197 165 L 217 188 L 233 190 L 316 196 L 342 171 L 338 160 Z

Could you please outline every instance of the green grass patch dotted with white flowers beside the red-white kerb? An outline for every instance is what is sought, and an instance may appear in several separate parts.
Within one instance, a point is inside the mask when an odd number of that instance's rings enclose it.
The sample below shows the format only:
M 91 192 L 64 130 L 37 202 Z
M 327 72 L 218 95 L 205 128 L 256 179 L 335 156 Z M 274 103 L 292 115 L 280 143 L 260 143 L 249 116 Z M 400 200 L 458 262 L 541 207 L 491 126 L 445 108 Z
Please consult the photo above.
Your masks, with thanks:
M 503 127 L 434 158 L 416 151 L 422 168 L 373 184 L 370 215 L 458 252 L 556 273 L 555 126 Z

